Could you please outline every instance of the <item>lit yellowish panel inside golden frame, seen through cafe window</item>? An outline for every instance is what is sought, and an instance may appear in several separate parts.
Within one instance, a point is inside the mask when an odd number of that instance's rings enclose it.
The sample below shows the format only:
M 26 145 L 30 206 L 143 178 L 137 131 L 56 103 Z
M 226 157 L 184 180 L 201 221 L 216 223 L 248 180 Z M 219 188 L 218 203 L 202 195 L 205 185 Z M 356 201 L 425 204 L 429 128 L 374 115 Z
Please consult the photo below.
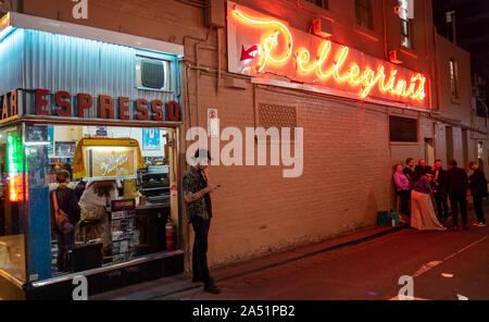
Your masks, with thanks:
M 85 169 L 91 179 L 136 178 L 135 147 L 84 147 Z

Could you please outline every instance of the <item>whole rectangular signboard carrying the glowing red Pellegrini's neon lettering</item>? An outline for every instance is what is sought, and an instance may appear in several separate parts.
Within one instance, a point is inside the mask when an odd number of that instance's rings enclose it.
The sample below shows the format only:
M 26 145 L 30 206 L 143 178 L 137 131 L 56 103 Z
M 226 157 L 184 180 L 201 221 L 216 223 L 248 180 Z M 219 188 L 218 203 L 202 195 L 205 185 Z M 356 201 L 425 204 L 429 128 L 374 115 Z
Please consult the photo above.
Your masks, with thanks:
M 361 99 L 380 97 L 425 104 L 426 78 L 421 73 L 397 67 L 347 46 L 290 29 L 279 21 L 256 17 L 256 13 L 248 12 L 250 10 L 244 12 L 236 4 L 230 7 L 233 22 L 229 25 L 236 32 L 234 41 L 241 46 L 238 72 L 253 76 L 278 74 L 294 81 L 355 91 Z M 253 45 L 253 40 L 256 44 Z

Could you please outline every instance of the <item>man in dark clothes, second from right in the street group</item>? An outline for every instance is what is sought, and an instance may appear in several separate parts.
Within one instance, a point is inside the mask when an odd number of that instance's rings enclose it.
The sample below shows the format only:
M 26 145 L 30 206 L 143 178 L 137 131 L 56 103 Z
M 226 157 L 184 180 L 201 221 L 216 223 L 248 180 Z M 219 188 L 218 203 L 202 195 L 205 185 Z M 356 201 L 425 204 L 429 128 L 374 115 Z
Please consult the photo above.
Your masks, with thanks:
M 447 171 L 447 193 L 452 208 L 453 227 L 452 231 L 459 231 L 459 206 L 462 213 L 464 230 L 468 231 L 467 224 L 467 173 L 465 170 L 456 166 L 455 160 L 450 160 Z

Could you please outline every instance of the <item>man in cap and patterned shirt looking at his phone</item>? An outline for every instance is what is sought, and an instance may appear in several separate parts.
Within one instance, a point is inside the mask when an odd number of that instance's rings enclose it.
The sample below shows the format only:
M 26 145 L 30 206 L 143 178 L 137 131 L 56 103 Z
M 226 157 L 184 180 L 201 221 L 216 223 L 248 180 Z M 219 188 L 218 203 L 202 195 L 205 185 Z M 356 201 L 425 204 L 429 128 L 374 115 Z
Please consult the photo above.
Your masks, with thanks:
M 211 278 L 208 267 L 208 237 L 212 218 L 211 193 L 217 189 L 209 183 L 208 163 L 213 160 L 208 150 L 197 150 L 192 158 L 196 162 L 184 174 L 183 190 L 187 206 L 188 222 L 195 233 L 192 250 L 192 282 L 204 282 L 204 290 L 220 294 L 221 290 Z

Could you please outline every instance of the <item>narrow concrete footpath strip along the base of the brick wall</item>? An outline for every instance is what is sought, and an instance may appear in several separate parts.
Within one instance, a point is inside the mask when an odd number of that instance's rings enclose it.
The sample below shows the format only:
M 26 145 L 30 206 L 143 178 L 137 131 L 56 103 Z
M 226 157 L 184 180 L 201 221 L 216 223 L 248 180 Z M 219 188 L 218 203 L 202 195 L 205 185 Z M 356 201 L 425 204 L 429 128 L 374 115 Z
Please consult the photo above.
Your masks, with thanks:
M 308 257 L 317 256 L 330 250 L 340 249 L 348 246 L 359 245 L 381 236 L 400 232 L 404 225 L 396 227 L 369 226 L 353 233 L 326 239 L 321 243 L 269 253 L 260 258 L 233 263 L 215 270 L 211 274 L 216 283 L 238 278 L 248 274 L 277 268 Z M 160 280 L 140 283 L 128 287 L 90 296 L 90 300 L 152 300 L 171 297 L 178 293 L 201 288 L 202 284 L 192 283 L 191 276 L 185 273 L 167 276 Z

